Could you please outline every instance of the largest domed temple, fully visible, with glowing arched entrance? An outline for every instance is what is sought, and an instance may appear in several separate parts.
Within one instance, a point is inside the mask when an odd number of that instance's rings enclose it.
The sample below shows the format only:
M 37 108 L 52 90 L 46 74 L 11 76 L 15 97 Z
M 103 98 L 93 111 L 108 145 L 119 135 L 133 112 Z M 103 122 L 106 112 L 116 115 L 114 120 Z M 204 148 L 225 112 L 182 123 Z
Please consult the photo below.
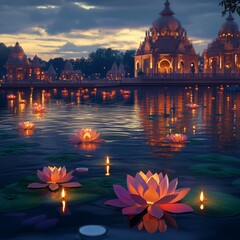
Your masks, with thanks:
M 135 77 L 144 74 L 197 73 L 198 59 L 186 30 L 175 18 L 168 0 L 160 17 L 146 31 L 134 57 Z

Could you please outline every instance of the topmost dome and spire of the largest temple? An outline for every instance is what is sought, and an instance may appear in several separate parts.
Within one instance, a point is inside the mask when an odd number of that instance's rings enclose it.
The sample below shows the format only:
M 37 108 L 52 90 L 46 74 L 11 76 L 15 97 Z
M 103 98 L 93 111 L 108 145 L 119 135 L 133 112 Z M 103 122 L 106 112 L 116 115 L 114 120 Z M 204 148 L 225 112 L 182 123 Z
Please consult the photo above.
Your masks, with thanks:
M 178 32 L 179 35 L 183 28 L 180 21 L 175 18 L 174 12 L 170 9 L 170 3 L 168 0 L 165 2 L 165 8 L 160 12 L 160 17 L 152 23 L 153 29 L 155 29 L 160 34 Z

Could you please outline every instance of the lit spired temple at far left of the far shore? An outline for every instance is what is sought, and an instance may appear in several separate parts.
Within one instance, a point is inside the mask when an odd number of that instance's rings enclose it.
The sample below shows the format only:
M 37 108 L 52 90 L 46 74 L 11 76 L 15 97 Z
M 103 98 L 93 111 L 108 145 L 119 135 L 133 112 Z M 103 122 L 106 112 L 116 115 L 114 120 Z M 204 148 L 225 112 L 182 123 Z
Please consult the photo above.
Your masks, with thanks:
M 30 62 L 18 42 L 11 50 L 6 62 L 6 68 L 6 78 L 9 82 L 44 79 L 43 65 L 40 63 L 39 58 L 35 55 L 32 62 Z

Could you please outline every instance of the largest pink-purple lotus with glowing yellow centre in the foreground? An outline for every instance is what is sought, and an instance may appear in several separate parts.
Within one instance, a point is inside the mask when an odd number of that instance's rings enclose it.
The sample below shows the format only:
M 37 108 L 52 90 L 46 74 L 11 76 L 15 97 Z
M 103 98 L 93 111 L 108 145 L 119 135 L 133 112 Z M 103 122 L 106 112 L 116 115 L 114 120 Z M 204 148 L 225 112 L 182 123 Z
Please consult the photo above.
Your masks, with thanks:
M 137 173 L 135 178 L 127 176 L 128 191 L 120 185 L 113 185 L 118 199 L 112 199 L 105 204 L 121 207 L 124 215 L 136 215 L 147 209 L 147 212 L 157 219 L 163 216 L 164 211 L 171 213 L 192 212 L 186 204 L 176 203 L 184 198 L 190 188 L 177 188 L 178 179 L 169 183 L 167 174 L 152 174 L 148 171 Z

